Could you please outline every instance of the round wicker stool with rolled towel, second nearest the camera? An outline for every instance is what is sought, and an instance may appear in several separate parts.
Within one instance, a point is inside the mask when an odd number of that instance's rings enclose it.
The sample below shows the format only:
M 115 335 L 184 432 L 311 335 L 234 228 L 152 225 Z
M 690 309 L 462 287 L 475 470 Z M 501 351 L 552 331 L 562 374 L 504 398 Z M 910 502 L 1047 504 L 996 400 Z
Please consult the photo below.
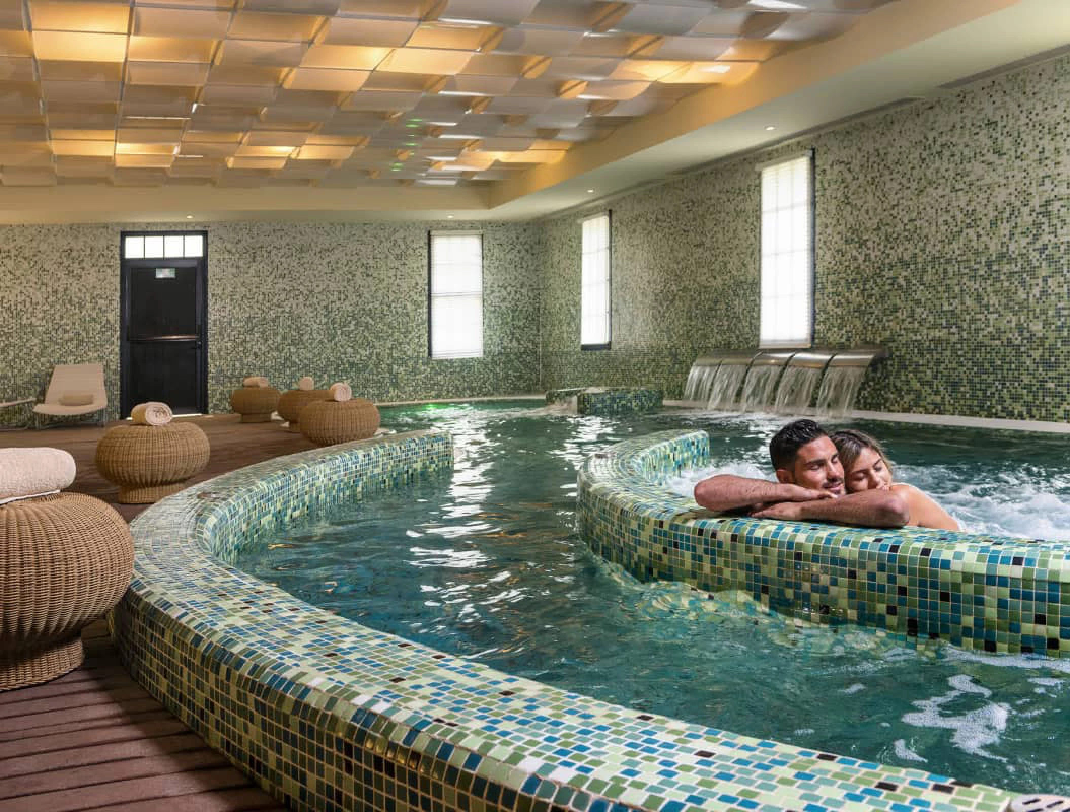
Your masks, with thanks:
M 181 491 L 208 457 L 208 436 L 194 423 L 117 425 L 96 443 L 96 467 L 119 485 L 123 505 L 148 505 Z

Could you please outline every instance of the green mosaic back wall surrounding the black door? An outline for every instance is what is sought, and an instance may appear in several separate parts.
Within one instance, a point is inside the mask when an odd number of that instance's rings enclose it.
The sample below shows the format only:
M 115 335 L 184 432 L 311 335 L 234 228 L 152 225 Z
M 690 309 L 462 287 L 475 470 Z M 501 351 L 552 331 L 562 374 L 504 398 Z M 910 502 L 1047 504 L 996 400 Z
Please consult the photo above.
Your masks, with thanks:
M 321 386 L 348 380 L 374 401 L 538 390 L 540 226 L 468 226 L 484 232 L 485 356 L 450 361 L 427 357 L 430 227 L 210 225 L 210 409 L 229 411 L 230 391 L 249 374 L 279 389 L 302 375 Z M 103 361 L 110 416 L 119 416 L 123 228 L 0 228 L 0 401 L 43 395 L 56 363 Z

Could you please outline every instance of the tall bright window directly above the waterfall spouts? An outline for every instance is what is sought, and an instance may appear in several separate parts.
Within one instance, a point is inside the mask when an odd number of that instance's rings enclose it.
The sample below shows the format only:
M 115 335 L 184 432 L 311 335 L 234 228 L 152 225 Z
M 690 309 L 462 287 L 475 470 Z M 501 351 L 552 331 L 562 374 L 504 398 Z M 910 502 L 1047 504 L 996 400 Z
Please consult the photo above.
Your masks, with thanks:
M 812 166 L 807 153 L 762 169 L 762 347 L 813 341 Z

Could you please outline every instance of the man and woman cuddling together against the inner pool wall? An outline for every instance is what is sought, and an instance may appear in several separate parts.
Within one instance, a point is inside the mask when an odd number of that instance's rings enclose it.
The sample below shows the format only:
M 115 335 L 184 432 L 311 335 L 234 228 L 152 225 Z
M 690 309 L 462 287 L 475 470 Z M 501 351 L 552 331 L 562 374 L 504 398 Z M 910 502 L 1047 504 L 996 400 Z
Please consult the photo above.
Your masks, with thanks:
M 696 501 L 755 518 L 959 529 L 929 496 L 892 481 L 884 449 L 862 432 L 829 435 L 812 420 L 796 420 L 769 441 L 769 457 L 776 482 L 719 473 L 696 485 Z

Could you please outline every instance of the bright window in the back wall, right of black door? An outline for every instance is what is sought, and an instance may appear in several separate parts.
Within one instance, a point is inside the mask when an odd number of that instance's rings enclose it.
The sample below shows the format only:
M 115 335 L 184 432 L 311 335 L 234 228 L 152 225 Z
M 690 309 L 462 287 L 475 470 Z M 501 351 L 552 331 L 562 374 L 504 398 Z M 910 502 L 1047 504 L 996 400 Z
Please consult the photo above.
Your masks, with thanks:
M 483 235 L 431 232 L 431 358 L 483 358 Z

